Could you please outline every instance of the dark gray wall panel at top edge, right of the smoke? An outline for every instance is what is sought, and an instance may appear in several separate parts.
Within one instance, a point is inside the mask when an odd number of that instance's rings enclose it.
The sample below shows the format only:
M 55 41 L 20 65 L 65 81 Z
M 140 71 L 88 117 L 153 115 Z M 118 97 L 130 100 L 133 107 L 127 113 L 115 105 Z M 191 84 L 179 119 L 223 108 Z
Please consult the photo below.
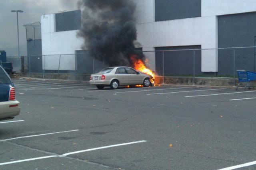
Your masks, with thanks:
M 155 21 L 201 16 L 201 0 L 155 0 Z

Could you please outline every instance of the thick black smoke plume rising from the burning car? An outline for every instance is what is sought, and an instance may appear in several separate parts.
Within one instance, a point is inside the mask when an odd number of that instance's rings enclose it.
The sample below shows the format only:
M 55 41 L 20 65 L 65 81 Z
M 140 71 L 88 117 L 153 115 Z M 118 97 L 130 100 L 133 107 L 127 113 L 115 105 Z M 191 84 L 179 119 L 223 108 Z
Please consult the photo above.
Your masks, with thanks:
M 82 29 L 78 36 L 84 38 L 83 49 L 90 56 L 109 66 L 133 66 L 131 57 L 144 55 L 135 49 L 137 38 L 132 0 L 80 0 Z

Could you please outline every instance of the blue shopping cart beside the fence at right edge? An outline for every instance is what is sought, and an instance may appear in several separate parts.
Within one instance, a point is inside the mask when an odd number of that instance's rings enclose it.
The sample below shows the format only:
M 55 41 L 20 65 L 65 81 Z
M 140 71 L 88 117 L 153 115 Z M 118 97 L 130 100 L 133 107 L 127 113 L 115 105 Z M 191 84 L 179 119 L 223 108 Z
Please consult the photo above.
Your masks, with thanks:
M 241 85 L 241 82 L 246 82 L 246 85 L 244 86 L 244 90 L 246 88 L 250 88 L 250 81 L 256 80 L 256 72 L 246 71 L 246 70 L 236 70 L 238 74 L 238 86 L 236 87 L 236 90 L 238 90 L 239 86 Z

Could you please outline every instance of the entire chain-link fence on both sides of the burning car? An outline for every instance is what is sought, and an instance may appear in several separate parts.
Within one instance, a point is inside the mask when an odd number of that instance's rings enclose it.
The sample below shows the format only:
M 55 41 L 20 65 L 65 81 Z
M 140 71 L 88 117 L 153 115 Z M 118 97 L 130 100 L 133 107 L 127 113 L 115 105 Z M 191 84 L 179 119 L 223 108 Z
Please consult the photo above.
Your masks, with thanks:
M 256 71 L 256 47 L 143 53 L 147 58 L 146 66 L 155 70 L 159 83 L 179 81 L 180 84 L 202 85 L 202 78 L 222 78 L 231 81 L 230 85 L 236 85 L 236 70 Z M 89 57 L 84 51 L 76 51 L 76 54 L 70 55 L 34 55 L 22 58 L 23 65 L 20 70 L 27 72 L 27 76 L 40 78 L 89 80 L 90 74 L 107 67 L 101 61 Z

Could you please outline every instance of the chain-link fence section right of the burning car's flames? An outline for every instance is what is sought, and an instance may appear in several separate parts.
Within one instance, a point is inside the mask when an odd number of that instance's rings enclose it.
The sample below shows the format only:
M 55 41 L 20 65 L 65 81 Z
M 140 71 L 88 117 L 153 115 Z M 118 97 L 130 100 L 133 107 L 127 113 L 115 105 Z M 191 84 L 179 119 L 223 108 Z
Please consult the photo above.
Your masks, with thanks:
M 182 49 L 144 53 L 155 54 L 156 74 L 162 77 L 160 80 L 162 83 L 180 81 L 178 82 L 180 84 L 201 85 L 202 78 L 222 78 L 231 79 L 232 84 L 229 82 L 229 85 L 235 86 L 238 83 L 236 70 L 256 71 L 256 47 Z

